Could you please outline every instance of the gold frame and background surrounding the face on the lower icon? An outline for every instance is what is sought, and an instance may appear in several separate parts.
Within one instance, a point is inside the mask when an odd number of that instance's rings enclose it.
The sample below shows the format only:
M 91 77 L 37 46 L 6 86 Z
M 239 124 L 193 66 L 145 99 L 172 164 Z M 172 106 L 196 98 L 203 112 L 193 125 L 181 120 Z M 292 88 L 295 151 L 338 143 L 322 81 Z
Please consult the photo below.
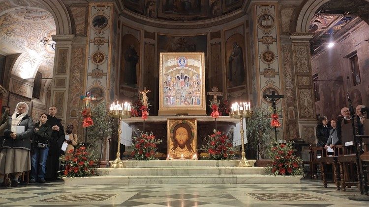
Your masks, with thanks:
M 184 159 L 192 159 L 193 155 L 197 154 L 197 120 L 196 119 L 168 119 L 167 120 L 167 155 L 170 155 L 173 159 L 179 159 L 181 157 L 171 155 L 171 145 L 173 144 L 173 129 L 178 124 L 186 124 L 191 128 L 191 141 L 190 145 L 193 149 L 193 152 L 189 156 L 185 156 Z M 192 137 L 193 136 L 193 137 Z M 196 155 L 197 157 L 197 155 Z

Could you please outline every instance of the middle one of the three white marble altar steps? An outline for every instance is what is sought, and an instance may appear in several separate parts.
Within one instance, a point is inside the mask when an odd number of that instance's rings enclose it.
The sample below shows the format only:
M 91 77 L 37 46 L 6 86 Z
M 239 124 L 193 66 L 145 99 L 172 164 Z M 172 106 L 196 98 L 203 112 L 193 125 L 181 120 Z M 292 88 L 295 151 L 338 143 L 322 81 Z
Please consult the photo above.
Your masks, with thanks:
M 101 176 L 191 176 L 191 175 L 265 175 L 264 167 L 136 167 L 136 168 L 98 168 Z

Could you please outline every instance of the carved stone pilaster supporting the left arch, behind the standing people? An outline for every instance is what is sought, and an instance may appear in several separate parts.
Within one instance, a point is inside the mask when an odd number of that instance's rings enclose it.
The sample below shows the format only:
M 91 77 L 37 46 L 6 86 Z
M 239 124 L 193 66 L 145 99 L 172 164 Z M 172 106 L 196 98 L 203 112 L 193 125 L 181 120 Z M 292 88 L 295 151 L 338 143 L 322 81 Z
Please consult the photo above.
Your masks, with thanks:
M 57 107 L 58 113 L 56 117 L 61 118 L 63 125 L 65 125 L 68 107 L 72 42 L 74 40 L 74 35 L 52 35 L 52 37 L 56 42 L 56 48 L 50 103 Z

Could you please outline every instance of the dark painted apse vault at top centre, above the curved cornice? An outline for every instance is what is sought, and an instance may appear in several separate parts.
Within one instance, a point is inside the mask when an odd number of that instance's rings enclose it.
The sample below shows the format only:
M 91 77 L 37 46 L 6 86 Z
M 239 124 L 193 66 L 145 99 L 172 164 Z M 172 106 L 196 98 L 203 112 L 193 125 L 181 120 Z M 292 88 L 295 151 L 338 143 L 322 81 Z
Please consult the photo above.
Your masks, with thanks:
M 247 0 L 121 0 L 124 7 L 149 19 L 206 20 L 240 9 Z

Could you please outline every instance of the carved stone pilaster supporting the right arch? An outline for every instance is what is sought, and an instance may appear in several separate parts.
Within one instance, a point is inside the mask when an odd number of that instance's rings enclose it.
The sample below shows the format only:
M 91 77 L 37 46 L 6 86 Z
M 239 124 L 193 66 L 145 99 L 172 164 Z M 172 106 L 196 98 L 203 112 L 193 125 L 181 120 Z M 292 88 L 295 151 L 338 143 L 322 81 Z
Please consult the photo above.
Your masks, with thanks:
M 315 142 L 316 126 L 315 96 L 311 72 L 309 40 L 311 33 L 291 33 L 292 56 L 295 72 L 295 86 L 298 106 L 298 125 L 300 138 Z

